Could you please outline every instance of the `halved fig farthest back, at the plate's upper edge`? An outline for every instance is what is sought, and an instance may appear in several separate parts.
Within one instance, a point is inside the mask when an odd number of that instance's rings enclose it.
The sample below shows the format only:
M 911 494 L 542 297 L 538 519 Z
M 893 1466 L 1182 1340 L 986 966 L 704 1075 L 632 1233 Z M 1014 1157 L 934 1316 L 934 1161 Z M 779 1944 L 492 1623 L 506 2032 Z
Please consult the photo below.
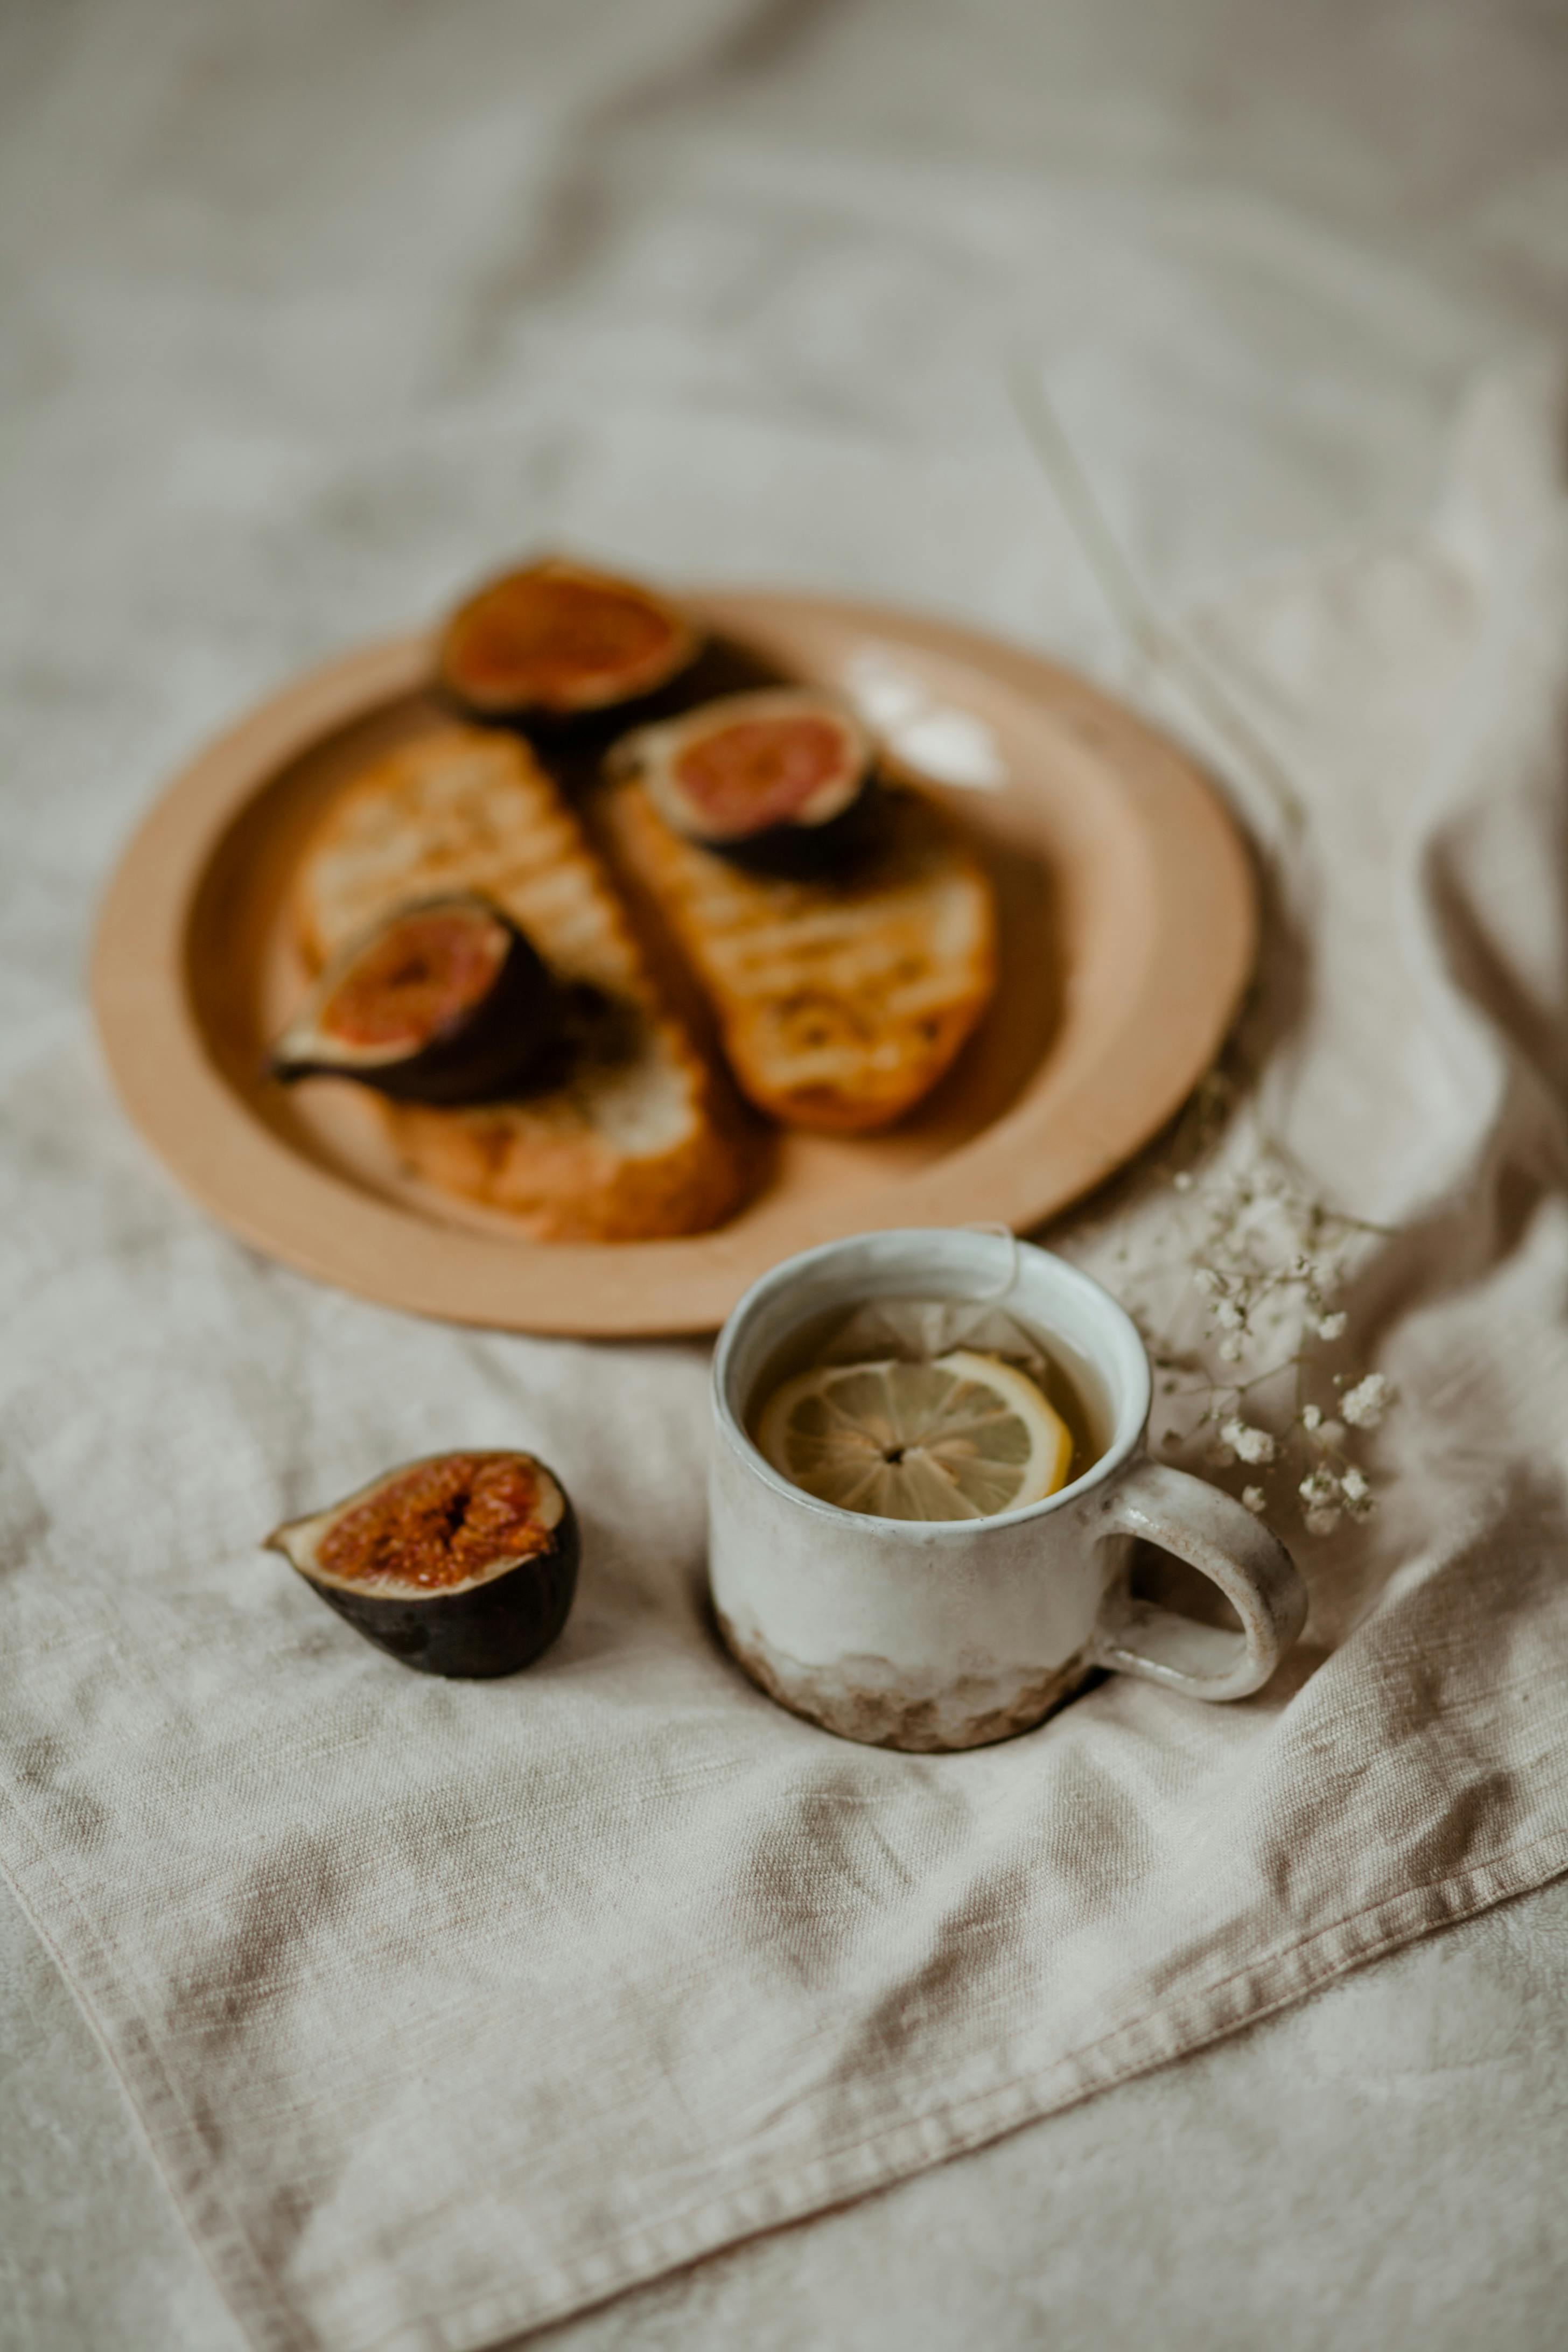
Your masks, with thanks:
M 701 644 L 691 619 L 635 581 L 557 557 L 508 572 L 447 621 L 440 684 L 475 720 L 571 720 L 642 701 Z

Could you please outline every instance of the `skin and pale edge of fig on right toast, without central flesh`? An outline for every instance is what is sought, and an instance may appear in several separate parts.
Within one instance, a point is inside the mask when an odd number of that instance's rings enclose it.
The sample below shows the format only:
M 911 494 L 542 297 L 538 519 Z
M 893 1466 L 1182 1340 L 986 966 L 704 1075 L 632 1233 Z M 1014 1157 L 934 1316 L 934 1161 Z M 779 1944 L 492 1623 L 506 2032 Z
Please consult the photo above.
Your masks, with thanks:
M 733 821 L 710 821 L 698 797 L 682 783 L 679 762 L 705 736 L 795 720 L 827 724 L 839 739 L 837 771 L 806 795 L 806 814 L 752 830 Z M 780 880 L 809 882 L 844 870 L 875 844 L 879 830 L 882 795 L 865 729 L 835 696 L 806 687 L 729 694 L 682 717 L 637 727 L 611 748 L 604 767 L 611 779 L 635 776 L 663 821 L 689 842 L 733 866 Z M 813 804 L 823 802 L 825 811 L 811 814 Z

